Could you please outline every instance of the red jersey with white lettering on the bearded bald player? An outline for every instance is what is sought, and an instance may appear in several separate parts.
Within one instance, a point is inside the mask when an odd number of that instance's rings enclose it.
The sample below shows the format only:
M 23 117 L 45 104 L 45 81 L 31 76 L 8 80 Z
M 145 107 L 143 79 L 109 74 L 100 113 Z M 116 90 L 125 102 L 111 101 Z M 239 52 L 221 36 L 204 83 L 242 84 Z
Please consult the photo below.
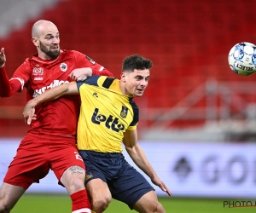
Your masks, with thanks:
M 27 89 L 27 101 L 44 93 L 45 90 L 73 81 L 68 75 L 76 68 L 91 67 L 93 73 L 110 75 L 103 66 L 77 51 L 61 50 L 54 60 L 42 60 L 38 55 L 27 58 L 15 71 L 17 79 Z M 79 95 L 65 95 L 55 101 L 45 102 L 36 107 L 37 119 L 32 121 L 29 133 L 70 137 L 76 135 L 79 118 Z

